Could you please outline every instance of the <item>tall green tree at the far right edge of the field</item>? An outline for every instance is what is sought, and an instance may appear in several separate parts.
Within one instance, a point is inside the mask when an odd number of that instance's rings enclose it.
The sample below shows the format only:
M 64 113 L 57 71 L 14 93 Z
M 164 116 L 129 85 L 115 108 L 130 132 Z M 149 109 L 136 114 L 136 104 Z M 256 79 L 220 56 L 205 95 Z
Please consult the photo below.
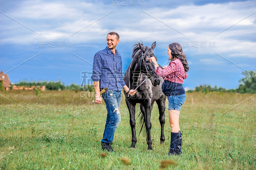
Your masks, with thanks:
M 256 72 L 253 70 L 242 72 L 244 77 L 239 81 L 236 89 L 239 93 L 256 93 Z

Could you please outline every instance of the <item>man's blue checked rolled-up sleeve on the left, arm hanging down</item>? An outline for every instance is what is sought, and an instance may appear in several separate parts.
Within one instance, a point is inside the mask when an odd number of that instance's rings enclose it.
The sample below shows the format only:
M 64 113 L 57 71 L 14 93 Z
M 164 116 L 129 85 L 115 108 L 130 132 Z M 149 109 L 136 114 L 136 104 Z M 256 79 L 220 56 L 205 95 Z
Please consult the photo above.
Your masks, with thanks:
M 97 52 L 93 59 L 93 66 L 92 66 L 92 81 L 100 81 L 101 70 L 102 70 L 102 58 L 100 53 Z

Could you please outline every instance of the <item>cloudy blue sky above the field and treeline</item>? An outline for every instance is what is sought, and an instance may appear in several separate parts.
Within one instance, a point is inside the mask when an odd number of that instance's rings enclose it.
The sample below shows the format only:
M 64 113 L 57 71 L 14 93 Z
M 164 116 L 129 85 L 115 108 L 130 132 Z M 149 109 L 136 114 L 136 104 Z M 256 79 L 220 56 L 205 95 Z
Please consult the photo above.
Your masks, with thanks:
M 183 87 L 190 89 L 236 89 L 242 72 L 256 68 L 255 0 L 1 0 L 0 23 L 0 71 L 12 83 L 91 83 L 93 57 L 111 31 L 120 36 L 123 72 L 140 41 L 156 41 L 162 66 L 168 44 L 180 43 L 189 64 Z

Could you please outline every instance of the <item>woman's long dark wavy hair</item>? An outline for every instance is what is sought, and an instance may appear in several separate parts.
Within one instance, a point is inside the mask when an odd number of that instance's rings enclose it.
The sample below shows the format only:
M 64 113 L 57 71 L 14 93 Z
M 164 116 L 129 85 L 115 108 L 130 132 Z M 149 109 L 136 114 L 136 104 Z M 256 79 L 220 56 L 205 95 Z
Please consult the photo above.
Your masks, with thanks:
M 182 47 L 179 43 L 170 43 L 169 49 L 171 50 L 172 59 L 169 58 L 169 60 L 174 61 L 175 58 L 179 58 L 181 63 L 184 66 L 185 72 L 188 72 L 188 62 L 187 62 L 187 56 L 184 54 Z

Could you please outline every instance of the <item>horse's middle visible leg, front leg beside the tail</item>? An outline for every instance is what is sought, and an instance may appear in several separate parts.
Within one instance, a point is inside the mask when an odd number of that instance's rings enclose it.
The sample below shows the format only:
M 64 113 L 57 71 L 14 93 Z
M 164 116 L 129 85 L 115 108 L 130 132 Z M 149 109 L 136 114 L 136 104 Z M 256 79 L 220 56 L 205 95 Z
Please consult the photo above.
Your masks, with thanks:
M 143 103 L 144 109 L 145 109 L 145 127 L 147 131 L 147 143 L 148 143 L 148 150 L 152 150 L 152 140 L 151 140 L 151 99 L 145 100 Z

